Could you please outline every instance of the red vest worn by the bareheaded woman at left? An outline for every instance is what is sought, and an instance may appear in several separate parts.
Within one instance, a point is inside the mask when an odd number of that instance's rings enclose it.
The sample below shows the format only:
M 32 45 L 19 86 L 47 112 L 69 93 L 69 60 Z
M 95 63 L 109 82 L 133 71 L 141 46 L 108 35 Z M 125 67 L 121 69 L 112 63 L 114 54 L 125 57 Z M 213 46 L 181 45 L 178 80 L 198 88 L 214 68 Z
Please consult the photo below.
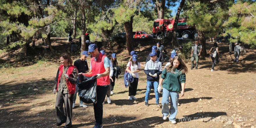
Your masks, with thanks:
M 60 79 L 61 79 L 61 75 L 62 75 L 62 72 L 63 72 L 63 65 L 60 65 L 59 67 L 59 75 L 58 75 L 58 83 L 57 83 L 57 90 L 58 90 L 58 86 L 59 86 L 59 82 L 60 82 Z M 72 72 L 74 70 L 75 66 L 74 65 L 70 65 L 67 69 L 67 73 L 69 77 L 72 77 Z M 70 81 L 67 80 L 67 86 L 68 86 L 68 93 L 69 94 L 74 94 L 75 91 L 76 91 L 76 83 L 70 83 Z

